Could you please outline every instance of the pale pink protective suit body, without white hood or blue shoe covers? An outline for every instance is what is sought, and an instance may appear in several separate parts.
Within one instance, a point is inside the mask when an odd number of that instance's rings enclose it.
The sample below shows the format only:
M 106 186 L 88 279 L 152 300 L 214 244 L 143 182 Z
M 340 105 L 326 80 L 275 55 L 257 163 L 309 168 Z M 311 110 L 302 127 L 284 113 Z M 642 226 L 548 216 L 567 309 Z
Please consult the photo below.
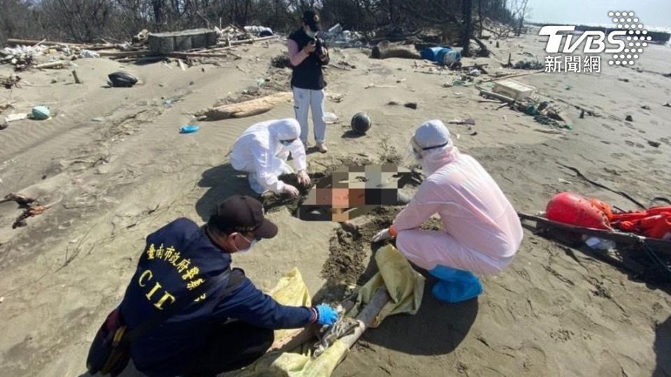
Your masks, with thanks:
M 522 241 L 521 224 L 482 165 L 449 145 L 422 166 L 428 178 L 394 220 L 398 249 L 428 270 L 443 265 L 493 274 L 509 265 Z M 433 214 L 442 230 L 420 230 Z

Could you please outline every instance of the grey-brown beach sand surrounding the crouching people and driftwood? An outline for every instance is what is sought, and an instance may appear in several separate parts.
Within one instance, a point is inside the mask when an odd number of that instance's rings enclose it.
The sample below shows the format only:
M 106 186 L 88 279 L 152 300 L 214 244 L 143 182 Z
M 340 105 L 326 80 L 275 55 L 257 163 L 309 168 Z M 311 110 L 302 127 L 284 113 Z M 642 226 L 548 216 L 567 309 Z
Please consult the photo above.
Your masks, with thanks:
M 514 60 L 528 59 L 521 54 L 526 51 L 542 61 L 543 47 L 538 36 L 528 35 L 502 40 L 493 50 L 500 60 L 509 51 Z M 20 209 L 0 204 L 2 376 L 84 374 L 89 342 L 121 299 L 144 237 L 179 216 L 203 221 L 227 195 L 250 193 L 226 154 L 250 124 L 291 117 L 291 104 L 253 118 L 201 122 L 195 134 L 180 135 L 178 128 L 189 122 L 189 114 L 237 98 L 259 78 L 271 77 L 271 84 L 286 88 L 289 71 L 268 64 L 283 50 L 280 42 L 238 47 L 243 60 L 187 71 L 83 59 L 77 64 L 85 84 L 71 84 L 68 70 L 29 71 L 20 75 L 30 85 L 2 89 L 0 103 L 16 108 L 5 114 L 41 104 L 55 116 L 14 121 L 0 131 L 0 193 L 21 192 L 45 203 L 62 199 L 16 230 L 11 223 Z M 329 153 L 308 156 L 312 171 L 343 161 L 380 161 L 390 146 L 404 154 L 421 121 L 473 117 L 477 135 L 451 126 L 456 143 L 481 161 L 520 211 L 542 210 L 551 195 L 564 190 L 631 208 L 558 161 L 644 202 L 670 195 L 671 108 L 662 104 L 671 101 L 671 79 L 661 75 L 671 73 L 668 47 L 651 46 L 642 54 L 637 66 L 646 72 L 605 66 L 600 75 L 521 77 L 556 98 L 575 119 L 574 131 L 559 133 L 524 114 L 496 110 L 497 103 L 479 103 L 482 98 L 472 87 L 442 87 L 454 75 L 427 74 L 426 62 L 414 68 L 410 60 L 375 61 L 362 50 L 332 55 L 332 61 L 347 59 L 356 69 L 329 69 L 329 93 L 344 96 L 340 103 L 327 102 L 327 111 L 343 121 L 328 128 Z M 490 71 L 500 66 L 495 59 L 476 61 L 489 63 Z M 135 73 L 143 84 L 104 87 L 106 75 L 118 69 Z M 9 70 L 0 66 L 0 75 Z M 618 80 L 623 78 L 629 82 Z M 369 83 L 395 88 L 364 89 Z M 179 101 L 168 107 L 164 98 Z M 417 102 L 419 108 L 386 105 L 389 101 Z M 579 119 L 572 105 L 598 117 Z M 359 111 L 367 111 L 374 126 L 366 137 L 348 138 L 347 119 Z M 633 121 L 624 120 L 628 114 Z M 282 206 L 270 218 L 280 225 L 280 235 L 236 256 L 235 264 L 265 289 L 298 266 L 311 292 L 319 292 L 342 254 L 342 242 L 332 240 L 340 227 L 303 223 Z M 343 275 L 370 267 L 366 239 L 373 228 L 347 240 L 364 256 L 353 258 L 352 270 L 345 266 Z M 331 267 L 327 263 L 330 269 L 322 274 L 327 260 Z M 431 280 L 417 316 L 388 318 L 368 331 L 335 376 L 671 375 L 671 289 L 637 281 L 531 232 L 525 232 L 514 263 L 484 279 L 485 293 L 478 300 L 440 304 L 430 287 Z M 124 375 L 138 374 L 129 369 Z

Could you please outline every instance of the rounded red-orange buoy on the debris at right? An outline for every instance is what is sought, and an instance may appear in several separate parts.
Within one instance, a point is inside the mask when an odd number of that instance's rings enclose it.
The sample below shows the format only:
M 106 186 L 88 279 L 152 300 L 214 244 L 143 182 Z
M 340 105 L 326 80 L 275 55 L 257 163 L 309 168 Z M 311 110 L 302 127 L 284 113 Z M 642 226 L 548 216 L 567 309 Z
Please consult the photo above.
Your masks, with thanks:
M 545 216 L 558 223 L 585 228 L 610 229 L 608 217 L 600 207 L 602 206 L 595 205 L 582 195 L 564 192 L 550 199 L 545 208 Z

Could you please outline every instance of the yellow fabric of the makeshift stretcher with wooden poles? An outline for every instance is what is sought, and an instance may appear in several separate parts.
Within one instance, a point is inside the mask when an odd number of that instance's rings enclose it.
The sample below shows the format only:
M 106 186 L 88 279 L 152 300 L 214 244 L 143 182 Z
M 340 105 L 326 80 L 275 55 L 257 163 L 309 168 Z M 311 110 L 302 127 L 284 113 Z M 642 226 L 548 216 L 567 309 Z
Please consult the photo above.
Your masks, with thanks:
M 375 261 L 380 272 L 361 287 L 356 306 L 347 315 L 355 317 L 363 305 L 368 303 L 375 290 L 382 286 L 387 288 L 391 300 L 375 318 L 373 327 L 377 327 L 384 318 L 393 314 L 417 313 L 424 293 L 424 276 L 414 271 L 405 257 L 391 245 L 378 250 Z M 308 288 L 303 283 L 301 272 L 295 267 L 280 279 L 270 295 L 280 304 L 310 306 Z M 282 339 L 284 334 L 287 334 L 286 330 L 278 330 L 275 332 L 275 339 Z M 336 341 L 315 359 L 299 352 L 300 350 L 298 353 L 268 353 L 249 367 L 225 376 L 329 377 L 338 363 L 345 358 L 349 349 L 341 341 Z

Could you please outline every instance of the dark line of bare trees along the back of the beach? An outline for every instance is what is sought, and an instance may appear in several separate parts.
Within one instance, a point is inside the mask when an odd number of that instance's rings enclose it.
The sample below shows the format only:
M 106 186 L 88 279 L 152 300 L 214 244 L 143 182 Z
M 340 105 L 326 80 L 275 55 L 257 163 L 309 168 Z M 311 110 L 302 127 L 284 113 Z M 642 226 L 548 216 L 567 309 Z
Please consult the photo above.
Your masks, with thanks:
M 294 29 L 306 8 L 325 26 L 416 30 L 421 27 L 486 29 L 487 22 L 516 27 L 528 0 L 0 0 L 0 43 L 6 38 L 94 42 L 130 40 L 143 29 L 258 24 Z M 491 23 L 490 22 L 490 23 Z

